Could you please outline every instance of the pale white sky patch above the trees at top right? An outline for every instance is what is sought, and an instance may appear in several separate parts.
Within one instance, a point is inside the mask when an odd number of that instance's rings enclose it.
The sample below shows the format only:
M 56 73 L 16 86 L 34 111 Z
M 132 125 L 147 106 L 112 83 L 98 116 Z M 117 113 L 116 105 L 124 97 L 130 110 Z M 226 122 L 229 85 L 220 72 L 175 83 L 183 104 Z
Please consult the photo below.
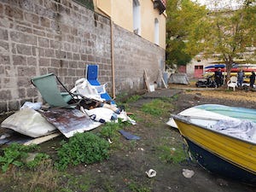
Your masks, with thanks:
M 194 0 L 202 5 L 207 5 L 208 9 L 221 9 L 225 7 L 229 7 L 232 9 L 236 9 L 241 3 L 237 3 L 236 0 Z M 241 0 L 240 0 L 241 2 Z

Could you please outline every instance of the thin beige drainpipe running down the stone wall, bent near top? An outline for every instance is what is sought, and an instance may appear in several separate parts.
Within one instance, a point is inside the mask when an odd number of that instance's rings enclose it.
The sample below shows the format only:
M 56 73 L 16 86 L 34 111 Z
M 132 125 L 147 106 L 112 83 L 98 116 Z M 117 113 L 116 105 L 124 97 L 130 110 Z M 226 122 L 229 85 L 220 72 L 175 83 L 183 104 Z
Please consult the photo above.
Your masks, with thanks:
M 109 15 L 106 11 L 104 11 L 102 8 L 99 7 L 98 1 L 97 3 L 97 9 L 102 11 L 105 15 L 107 15 L 110 19 L 110 41 L 111 41 L 111 70 L 112 70 L 112 95 L 113 99 L 115 98 L 115 82 L 114 82 L 114 61 L 113 61 L 113 20 L 111 15 Z

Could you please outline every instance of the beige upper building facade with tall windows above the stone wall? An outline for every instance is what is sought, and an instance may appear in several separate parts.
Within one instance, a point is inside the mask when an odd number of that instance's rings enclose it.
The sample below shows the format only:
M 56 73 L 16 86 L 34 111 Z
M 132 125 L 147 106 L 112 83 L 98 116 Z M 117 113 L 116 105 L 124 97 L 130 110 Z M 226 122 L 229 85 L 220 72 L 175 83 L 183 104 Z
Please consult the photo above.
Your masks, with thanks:
M 166 49 L 166 13 L 160 14 L 155 0 L 94 0 L 96 11 L 111 18 L 115 25 Z

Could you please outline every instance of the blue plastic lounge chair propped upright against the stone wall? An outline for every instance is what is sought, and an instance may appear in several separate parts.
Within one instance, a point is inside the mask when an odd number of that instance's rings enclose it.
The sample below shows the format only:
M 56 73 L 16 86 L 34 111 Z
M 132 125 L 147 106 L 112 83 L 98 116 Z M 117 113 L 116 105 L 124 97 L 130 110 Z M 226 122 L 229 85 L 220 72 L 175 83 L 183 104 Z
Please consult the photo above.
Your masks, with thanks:
M 85 70 L 85 78 L 89 81 L 91 85 L 99 86 L 101 85 L 98 81 L 98 65 L 86 65 Z M 104 84 L 105 86 L 106 84 Z M 111 104 L 115 105 L 116 103 L 113 101 L 111 96 L 108 95 L 108 92 L 105 91 L 104 93 L 101 93 L 102 99 L 104 99 L 106 102 L 110 102 Z

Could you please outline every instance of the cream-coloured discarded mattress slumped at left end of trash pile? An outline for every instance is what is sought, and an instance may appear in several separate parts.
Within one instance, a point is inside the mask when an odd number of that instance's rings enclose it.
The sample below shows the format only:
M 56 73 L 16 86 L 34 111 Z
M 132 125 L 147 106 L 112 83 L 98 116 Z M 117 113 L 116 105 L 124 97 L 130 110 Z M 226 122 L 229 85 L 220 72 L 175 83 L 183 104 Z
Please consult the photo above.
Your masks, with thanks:
M 4 119 L 1 127 L 17 131 L 29 137 L 43 137 L 56 128 L 32 108 L 24 108 Z

